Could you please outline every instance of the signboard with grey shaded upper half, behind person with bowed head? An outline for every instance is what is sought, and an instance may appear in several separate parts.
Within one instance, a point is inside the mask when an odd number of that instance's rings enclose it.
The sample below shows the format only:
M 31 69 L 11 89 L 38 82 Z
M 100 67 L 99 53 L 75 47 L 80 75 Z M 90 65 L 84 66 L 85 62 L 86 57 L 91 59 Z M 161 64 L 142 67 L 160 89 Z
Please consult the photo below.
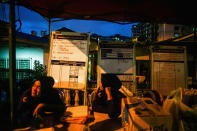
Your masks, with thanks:
M 116 74 L 122 85 L 134 89 L 134 48 L 131 43 L 101 43 L 98 54 L 97 86 L 102 74 Z

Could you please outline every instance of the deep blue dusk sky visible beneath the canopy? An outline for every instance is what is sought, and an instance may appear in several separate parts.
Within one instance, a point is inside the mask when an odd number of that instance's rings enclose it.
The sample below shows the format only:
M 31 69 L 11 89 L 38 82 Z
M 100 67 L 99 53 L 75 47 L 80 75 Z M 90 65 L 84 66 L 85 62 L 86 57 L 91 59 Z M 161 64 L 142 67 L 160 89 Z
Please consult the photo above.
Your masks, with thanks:
M 30 34 L 32 30 L 36 31 L 38 36 L 42 30 L 48 33 L 48 21 L 45 20 L 38 13 L 33 12 L 25 7 L 16 6 L 16 19 L 20 18 L 22 21 L 21 32 Z M 19 10 L 19 12 L 18 12 Z M 4 13 L 5 12 L 5 13 Z M 8 5 L 0 4 L 0 19 L 8 21 L 9 7 Z M 117 24 L 107 21 L 94 21 L 94 20 L 65 20 L 59 22 L 52 22 L 52 31 L 66 27 L 75 32 L 96 33 L 103 36 L 111 36 L 120 34 L 123 36 L 131 37 L 132 24 Z

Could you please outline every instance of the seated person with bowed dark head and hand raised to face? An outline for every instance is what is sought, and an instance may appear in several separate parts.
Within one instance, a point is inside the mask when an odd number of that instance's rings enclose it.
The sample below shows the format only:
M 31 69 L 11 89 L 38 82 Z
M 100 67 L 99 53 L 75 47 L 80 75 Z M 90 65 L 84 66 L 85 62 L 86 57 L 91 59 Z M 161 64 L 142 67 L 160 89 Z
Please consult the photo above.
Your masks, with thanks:
M 116 75 L 103 74 L 99 88 L 90 96 L 92 112 L 108 113 L 110 118 L 117 118 L 121 113 L 121 97 L 118 91 L 121 82 Z

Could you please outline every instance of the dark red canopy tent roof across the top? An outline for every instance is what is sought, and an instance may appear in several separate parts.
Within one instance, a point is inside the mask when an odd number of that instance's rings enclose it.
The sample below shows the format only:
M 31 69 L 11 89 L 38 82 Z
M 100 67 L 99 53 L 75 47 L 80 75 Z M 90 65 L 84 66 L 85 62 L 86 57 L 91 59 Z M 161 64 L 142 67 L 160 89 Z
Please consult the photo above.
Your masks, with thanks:
M 17 0 L 47 18 L 196 24 L 195 1 Z

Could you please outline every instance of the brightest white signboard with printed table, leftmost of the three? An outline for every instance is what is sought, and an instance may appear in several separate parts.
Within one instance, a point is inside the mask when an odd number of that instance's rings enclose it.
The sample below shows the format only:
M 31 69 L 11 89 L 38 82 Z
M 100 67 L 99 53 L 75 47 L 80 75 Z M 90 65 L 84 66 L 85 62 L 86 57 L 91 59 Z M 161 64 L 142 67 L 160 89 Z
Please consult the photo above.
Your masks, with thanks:
M 48 75 L 55 79 L 54 88 L 86 88 L 88 43 L 87 33 L 52 33 Z

